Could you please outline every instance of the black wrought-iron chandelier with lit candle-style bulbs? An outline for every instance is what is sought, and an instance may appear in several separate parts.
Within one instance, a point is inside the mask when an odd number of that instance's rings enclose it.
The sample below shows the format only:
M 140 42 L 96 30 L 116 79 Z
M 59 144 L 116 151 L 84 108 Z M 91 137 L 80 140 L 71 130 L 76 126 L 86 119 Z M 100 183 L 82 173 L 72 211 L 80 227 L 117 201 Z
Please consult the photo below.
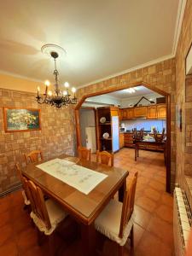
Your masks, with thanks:
M 76 89 L 72 87 L 71 93 L 69 91 L 69 83 L 65 82 L 63 89 L 61 89 L 61 86 L 58 84 L 58 75 L 59 72 L 56 68 L 56 59 L 58 58 L 59 54 L 56 51 L 50 51 L 49 55 L 54 59 L 55 61 L 55 70 L 54 70 L 54 76 L 55 76 L 55 90 L 49 90 L 49 81 L 45 81 L 45 90 L 44 94 L 40 95 L 40 87 L 38 86 L 38 95 L 36 96 L 37 102 L 39 104 L 48 104 L 50 106 L 54 106 L 55 108 L 62 108 L 67 107 L 70 104 L 77 104 L 78 99 L 75 95 Z

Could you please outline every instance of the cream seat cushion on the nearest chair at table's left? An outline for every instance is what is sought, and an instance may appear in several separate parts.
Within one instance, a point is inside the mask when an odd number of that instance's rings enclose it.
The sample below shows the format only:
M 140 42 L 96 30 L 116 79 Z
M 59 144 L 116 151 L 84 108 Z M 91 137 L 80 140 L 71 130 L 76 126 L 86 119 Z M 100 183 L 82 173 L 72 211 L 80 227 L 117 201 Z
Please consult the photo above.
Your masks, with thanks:
M 57 204 L 55 201 L 52 201 L 51 199 L 45 201 L 45 205 L 49 214 L 51 224 L 50 229 L 47 229 L 44 222 L 40 218 L 38 218 L 38 216 L 34 212 L 31 212 L 30 216 L 33 219 L 34 223 L 37 225 L 38 230 L 44 232 L 45 235 L 49 236 L 55 230 L 56 226 L 60 224 L 64 218 L 67 217 L 67 213 L 63 211 L 59 204 Z

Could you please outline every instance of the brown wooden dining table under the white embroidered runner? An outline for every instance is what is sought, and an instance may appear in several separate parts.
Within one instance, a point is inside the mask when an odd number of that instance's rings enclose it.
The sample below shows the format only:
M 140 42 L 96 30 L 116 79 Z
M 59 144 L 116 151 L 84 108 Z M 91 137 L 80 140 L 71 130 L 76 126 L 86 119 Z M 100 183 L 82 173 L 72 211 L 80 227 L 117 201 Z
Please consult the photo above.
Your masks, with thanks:
M 68 155 L 61 154 L 56 158 L 68 160 Z M 76 157 L 70 158 L 70 160 L 77 162 Z M 43 160 L 38 164 L 46 161 L 48 160 Z M 88 160 L 79 160 L 76 165 L 84 166 L 92 171 L 102 172 L 107 174 L 108 177 L 97 184 L 88 195 L 85 195 L 78 189 L 42 171 L 35 164 L 29 164 L 23 168 L 22 174 L 36 183 L 44 191 L 44 194 L 59 202 L 61 207 L 79 222 L 82 246 L 80 253 L 84 256 L 92 256 L 96 254 L 94 221 L 118 191 L 119 201 L 123 201 L 126 177 L 128 177 L 129 172 L 118 167 L 105 166 Z

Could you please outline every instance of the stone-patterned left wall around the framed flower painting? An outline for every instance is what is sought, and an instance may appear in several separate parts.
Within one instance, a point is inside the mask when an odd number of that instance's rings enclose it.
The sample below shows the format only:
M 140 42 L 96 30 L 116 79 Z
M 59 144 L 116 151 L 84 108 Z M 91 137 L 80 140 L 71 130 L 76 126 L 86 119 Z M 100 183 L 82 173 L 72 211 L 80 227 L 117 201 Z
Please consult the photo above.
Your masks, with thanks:
M 3 107 L 40 108 L 42 130 L 5 133 Z M 39 148 L 45 159 L 62 153 L 73 154 L 74 136 L 73 108 L 39 105 L 32 93 L 0 89 L 0 193 L 18 183 L 15 162 L 25 166 L 22 153 Z

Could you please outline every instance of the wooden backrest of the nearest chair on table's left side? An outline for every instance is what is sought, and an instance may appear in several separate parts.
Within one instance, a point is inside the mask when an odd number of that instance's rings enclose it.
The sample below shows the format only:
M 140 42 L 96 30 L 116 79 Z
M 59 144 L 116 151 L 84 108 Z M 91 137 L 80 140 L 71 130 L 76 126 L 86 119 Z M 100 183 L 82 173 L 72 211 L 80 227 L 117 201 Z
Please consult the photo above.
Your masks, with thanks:
M 26 183 L 26 187 L 29 191 L 29 200 L 31 202 L 32 212 L 44 222 L 47 229 L 50 229 L 51 224 L 49 214 L 44 202 L 44 194 L 42 190 L 31 180 L 27 180 L 25 177 L 24 182 Z

